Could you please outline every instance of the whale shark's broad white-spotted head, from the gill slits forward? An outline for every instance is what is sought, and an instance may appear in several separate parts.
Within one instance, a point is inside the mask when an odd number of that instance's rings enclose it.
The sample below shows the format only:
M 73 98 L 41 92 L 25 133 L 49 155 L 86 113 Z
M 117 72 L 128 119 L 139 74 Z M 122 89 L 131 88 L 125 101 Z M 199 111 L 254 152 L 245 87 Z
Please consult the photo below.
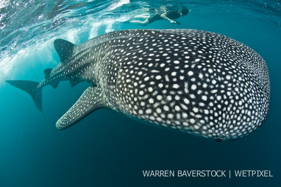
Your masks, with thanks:
M 127 32 L 127 46 L 114 45 L 122 50 L 114 83 L 118 111 L 216 141 L 241 138 L 261 126 L 269 76 L 253 49 L 207 31 Z

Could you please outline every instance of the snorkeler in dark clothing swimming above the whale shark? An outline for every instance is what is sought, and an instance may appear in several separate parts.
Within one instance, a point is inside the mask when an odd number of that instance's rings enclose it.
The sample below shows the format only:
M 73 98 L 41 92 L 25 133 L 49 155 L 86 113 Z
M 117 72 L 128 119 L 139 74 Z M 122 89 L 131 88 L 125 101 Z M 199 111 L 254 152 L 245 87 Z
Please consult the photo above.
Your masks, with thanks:
M 188 8 L 182 7 L 181 10 L 170 10 L 163 14 L 155 13 L 151 16 L 135 16 L 132 19 L 122 21 L 122 23 L 135 23 L 142 26 L 148 25 L 152 22 L 155 22 L 156 20 L 165 19 L 172 23 L 173 25 L 178 24 L 181 25 L 180 22 L 175 21 L 175 19 L 180 18 L 181 16 L 186 16 L 189 12 Z M 138 21 L 133 19 L 145 19 L 144 21 Z

